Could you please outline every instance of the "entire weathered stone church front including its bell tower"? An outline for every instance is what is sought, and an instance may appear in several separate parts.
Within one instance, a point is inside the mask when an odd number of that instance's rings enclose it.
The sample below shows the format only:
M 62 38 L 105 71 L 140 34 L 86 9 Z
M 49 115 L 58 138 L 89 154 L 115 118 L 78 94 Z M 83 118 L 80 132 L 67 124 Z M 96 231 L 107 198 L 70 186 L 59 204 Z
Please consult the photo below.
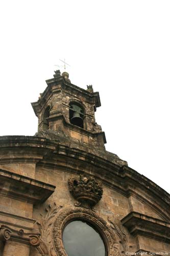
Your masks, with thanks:
M 0 137 L 0 256 L 170 254 L 170 195 L 105 149 L 100 95 L 55 71 L 35 136 Z

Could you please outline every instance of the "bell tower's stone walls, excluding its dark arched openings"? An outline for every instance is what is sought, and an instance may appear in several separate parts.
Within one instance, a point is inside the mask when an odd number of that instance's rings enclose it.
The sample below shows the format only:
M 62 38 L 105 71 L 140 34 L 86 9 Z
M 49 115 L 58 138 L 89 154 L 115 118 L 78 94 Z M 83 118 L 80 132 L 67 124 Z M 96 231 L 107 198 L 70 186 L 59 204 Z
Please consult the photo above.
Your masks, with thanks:
M 89 92 L 67 83 L 62 76 L 59 76 L 58 79 L 48 80 L 47 84 L 51 84 L 51 86 L 45 89 L 37 102 L 32 103 L 38 117 L 38 133 L 45 130 L 44 112 L 49 107 L 50 116 L 47 118 L 49 123 L 47 130 L 90 146 L 105 148 L 104 132 L 102 132 L 101 126 L 95 122 L 94 116 L 94 110 L 100 106 L 99 93 Z M 71 102 L 82 105 L 84 110 L 83 129 L 70 123 L 69 104 Z

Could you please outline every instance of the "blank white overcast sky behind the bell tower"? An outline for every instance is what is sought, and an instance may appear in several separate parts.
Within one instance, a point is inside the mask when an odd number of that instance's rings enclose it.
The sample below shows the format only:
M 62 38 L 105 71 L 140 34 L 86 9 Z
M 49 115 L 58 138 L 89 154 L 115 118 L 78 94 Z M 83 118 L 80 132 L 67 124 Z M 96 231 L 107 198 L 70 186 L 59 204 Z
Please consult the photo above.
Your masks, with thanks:
M 2 0 L 0 135 L 36 133 L 30 102 L 65 58 L 72 83 L 100 92 L 107 150 L 170 193 L 169 13 L 169 0 Z

